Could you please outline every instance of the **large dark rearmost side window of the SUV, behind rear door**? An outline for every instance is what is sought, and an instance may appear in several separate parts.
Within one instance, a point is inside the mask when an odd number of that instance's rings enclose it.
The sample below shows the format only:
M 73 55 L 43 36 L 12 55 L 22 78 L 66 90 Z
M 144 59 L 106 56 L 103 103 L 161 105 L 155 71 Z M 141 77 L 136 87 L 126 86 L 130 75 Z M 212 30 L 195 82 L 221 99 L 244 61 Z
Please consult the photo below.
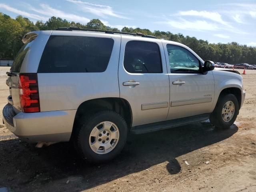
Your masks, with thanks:
M 104 72 L 113 45 L 111 38 L 50 36 L 38 73 Z

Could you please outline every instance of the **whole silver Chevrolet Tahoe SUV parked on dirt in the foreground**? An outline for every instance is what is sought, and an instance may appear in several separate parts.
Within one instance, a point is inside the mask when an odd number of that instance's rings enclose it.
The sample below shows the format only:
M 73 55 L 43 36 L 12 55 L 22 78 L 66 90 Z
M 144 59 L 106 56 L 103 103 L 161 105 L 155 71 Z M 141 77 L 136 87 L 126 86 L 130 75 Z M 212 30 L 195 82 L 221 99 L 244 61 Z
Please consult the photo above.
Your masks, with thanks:
M 37 146 L 72 141 L 104 162 L 128 132 L 210 118 L 228 128 L 244 102 L 242 76 L 213 70 L 187 46 L 143 34 L 58 28 L 26 34 L 8 74 L 4 123 Z

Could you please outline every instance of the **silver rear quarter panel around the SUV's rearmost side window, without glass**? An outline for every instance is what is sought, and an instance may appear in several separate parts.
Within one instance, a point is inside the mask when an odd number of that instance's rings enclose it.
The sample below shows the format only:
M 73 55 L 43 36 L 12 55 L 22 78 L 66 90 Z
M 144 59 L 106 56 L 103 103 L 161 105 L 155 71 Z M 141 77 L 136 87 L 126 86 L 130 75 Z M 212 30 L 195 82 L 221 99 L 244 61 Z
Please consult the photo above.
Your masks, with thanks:
M 121 36 L 53 31 L 52 35 L 93 36 L 114 39 L 108 67 L 104 72 L 93 73 L 38 73 L 41 111 L 77 109 L 82 102 L 106 97 L 120 97 L 118 62 Z

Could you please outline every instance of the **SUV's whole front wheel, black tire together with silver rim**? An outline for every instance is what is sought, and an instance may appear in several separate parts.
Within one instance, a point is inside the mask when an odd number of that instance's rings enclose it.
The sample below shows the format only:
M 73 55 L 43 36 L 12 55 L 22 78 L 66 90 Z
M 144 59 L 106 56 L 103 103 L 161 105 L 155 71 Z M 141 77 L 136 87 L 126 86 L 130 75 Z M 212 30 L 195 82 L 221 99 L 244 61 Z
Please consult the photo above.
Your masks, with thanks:
M 238 107 L 238 100 L 234 94 L 221 94 L 214 111 L 210 115 L 210 122 L 216 128 L 229 128 L 236 120 Z

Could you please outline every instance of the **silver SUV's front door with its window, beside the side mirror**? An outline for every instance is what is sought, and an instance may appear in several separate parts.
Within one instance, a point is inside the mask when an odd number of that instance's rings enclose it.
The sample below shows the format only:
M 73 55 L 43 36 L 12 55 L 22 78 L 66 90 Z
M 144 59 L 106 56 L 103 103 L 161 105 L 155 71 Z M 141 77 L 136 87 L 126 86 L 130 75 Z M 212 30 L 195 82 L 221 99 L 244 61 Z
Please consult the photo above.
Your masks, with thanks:
M 214 100 L 212 71 L 202 74 L 202 62 L 185 47 L 163 43 L 170 79 L 167 120 L 210 113 Z

